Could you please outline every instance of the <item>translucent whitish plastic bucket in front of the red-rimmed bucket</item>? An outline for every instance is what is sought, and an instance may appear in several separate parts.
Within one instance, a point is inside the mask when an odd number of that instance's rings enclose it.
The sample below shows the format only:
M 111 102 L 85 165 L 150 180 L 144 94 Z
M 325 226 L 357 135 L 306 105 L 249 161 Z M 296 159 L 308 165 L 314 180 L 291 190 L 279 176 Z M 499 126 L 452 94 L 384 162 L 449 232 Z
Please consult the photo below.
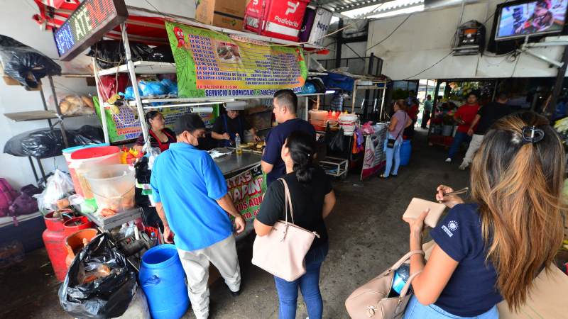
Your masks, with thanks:
M 85 178 L 99 210 L 119 212 L 134 207 L 134 168 L 126 164 L 99 166 L 90 169 Z

